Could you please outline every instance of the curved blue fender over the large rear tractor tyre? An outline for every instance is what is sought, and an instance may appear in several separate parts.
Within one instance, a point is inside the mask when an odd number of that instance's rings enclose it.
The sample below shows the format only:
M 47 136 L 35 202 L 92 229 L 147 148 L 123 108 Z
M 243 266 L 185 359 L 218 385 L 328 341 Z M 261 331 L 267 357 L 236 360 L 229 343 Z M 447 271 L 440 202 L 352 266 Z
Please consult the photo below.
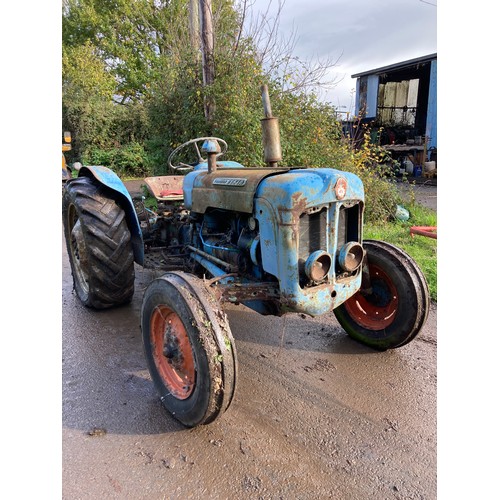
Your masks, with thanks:
M 117 201 L 119 201 L 120 206 L 125 211 L 127 226 L 132 240 L 134 260 L 137 264 L 141 266 L 144 265 L 144 242 L 142 239 L 141 226 L 134 208 L 134 202 L 125 184 L 123 184 L 121 179 L 112 170 L 103 166 L 81 167 L 78 171 L 78 177 L 92 177 L 116 194 Z

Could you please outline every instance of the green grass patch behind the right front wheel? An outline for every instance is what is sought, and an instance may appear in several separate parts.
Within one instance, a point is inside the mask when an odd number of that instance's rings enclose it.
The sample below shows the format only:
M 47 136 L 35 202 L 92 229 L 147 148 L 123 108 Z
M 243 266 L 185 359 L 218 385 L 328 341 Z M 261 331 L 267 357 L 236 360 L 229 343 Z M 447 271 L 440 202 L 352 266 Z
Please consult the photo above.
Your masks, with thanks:
M 365 224 L 363 237 L 392 243 L 408 253 L 422 269 L 432 300 L 437 301 L 437 240 L 419 235 L 412 238 L 410 235 L 411 226 L 437 227 L 437 214 L 417 203 L 405 205 L 405 208 L 410 212 L 408 221 Z

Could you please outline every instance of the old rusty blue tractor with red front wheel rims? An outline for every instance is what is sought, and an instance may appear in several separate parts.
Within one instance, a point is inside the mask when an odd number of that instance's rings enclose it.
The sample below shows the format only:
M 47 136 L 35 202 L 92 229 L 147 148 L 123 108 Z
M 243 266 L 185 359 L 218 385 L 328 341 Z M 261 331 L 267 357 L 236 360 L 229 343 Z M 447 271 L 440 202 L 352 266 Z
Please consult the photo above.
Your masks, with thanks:
M 413 340 L 427 319 L 428 286 L 416 263 L 393 245 L 363 240 L 361 180 L 278 167 L 265 88 L 263 103 L 266 167 L 221 161 L 226 142 L 201 137 L 172 152 L 175 175 L 145 180 L 154 211 L 105 167 L 82 167 L 64 189 L 66 244 L 84 305 L 129 302 L 134 263 L 161 269 L 143 297 L 144 352 L 164 407 L 188 427 L 214 421 L 234 396 L 225 302 L 264 315 L 333 313 L 348 335 L 380 351 Z M 178 159 L 189 149 L 194 162 Z

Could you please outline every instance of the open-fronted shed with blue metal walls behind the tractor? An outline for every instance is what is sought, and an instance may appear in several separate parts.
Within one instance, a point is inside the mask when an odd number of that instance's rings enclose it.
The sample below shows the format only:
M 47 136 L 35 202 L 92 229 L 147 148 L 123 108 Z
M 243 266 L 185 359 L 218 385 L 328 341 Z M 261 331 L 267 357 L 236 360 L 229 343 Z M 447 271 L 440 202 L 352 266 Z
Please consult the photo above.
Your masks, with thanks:
M 437 54 L 391 64 L 356 78 L 356 110 L 363 122 L 384 128 L 388 144 L 427 137 L 437 149 Z

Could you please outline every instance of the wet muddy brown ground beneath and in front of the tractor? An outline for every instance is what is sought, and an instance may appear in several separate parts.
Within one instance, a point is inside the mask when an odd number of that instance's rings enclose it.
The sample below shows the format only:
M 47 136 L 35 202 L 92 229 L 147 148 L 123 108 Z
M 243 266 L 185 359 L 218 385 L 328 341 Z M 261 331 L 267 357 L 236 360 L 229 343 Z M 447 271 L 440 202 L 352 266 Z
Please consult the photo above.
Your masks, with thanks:
M 436 314 L 409 345 L 374 352 L 332 316 L 226 311 L 239 378 L 217 422 L 161 407 L 131 304 L 95 312 L 62 249 L 62 498 L 435 499 Z

